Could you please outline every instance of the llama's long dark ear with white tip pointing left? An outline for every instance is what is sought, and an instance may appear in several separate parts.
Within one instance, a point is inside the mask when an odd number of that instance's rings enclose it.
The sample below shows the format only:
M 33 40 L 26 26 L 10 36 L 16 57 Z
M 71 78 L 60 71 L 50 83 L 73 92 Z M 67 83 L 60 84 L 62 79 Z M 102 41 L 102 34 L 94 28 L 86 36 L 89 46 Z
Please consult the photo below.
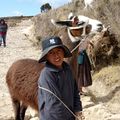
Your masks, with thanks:
M 67 27 L 72 26 L 72 21 L 70 21 L 70 20 L 55 21 L 55 20 L 51 19 L 51 23 L 53 25 L 60 25 L 60 26 L 67 26 Z

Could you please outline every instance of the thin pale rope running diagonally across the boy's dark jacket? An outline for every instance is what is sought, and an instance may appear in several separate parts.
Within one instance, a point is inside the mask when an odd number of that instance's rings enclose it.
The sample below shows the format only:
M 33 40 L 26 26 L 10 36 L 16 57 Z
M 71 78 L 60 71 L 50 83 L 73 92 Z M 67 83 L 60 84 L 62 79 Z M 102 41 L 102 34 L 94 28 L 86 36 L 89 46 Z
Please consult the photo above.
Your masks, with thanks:
M 47 92 L 49 92 L 49 93 L 51 93 L 52 95 L 54 95 L 64 106 L 65 106 L 65 108 L 67 108 L 67 110 L 75 117 L 75 118 L 77 118 L 78 120 L 83 120 L 83 116 L 81 116 L 81 118 L 79 118 L 79 116 L 77 116 L 77 115 L 75 115 L 69 108 L 68 108 L 68 106 L 57 96 L 57 95 L 55 95 L 52 91 L 50 91 L 50 90 L 48 90 L 47 88 L 44 88 L 44 87 L 40 87 L 40 86 L 38 86 L 40 89 L 42 89 L 42 90 L 45 90 L 45 91 L 47 91 Z

